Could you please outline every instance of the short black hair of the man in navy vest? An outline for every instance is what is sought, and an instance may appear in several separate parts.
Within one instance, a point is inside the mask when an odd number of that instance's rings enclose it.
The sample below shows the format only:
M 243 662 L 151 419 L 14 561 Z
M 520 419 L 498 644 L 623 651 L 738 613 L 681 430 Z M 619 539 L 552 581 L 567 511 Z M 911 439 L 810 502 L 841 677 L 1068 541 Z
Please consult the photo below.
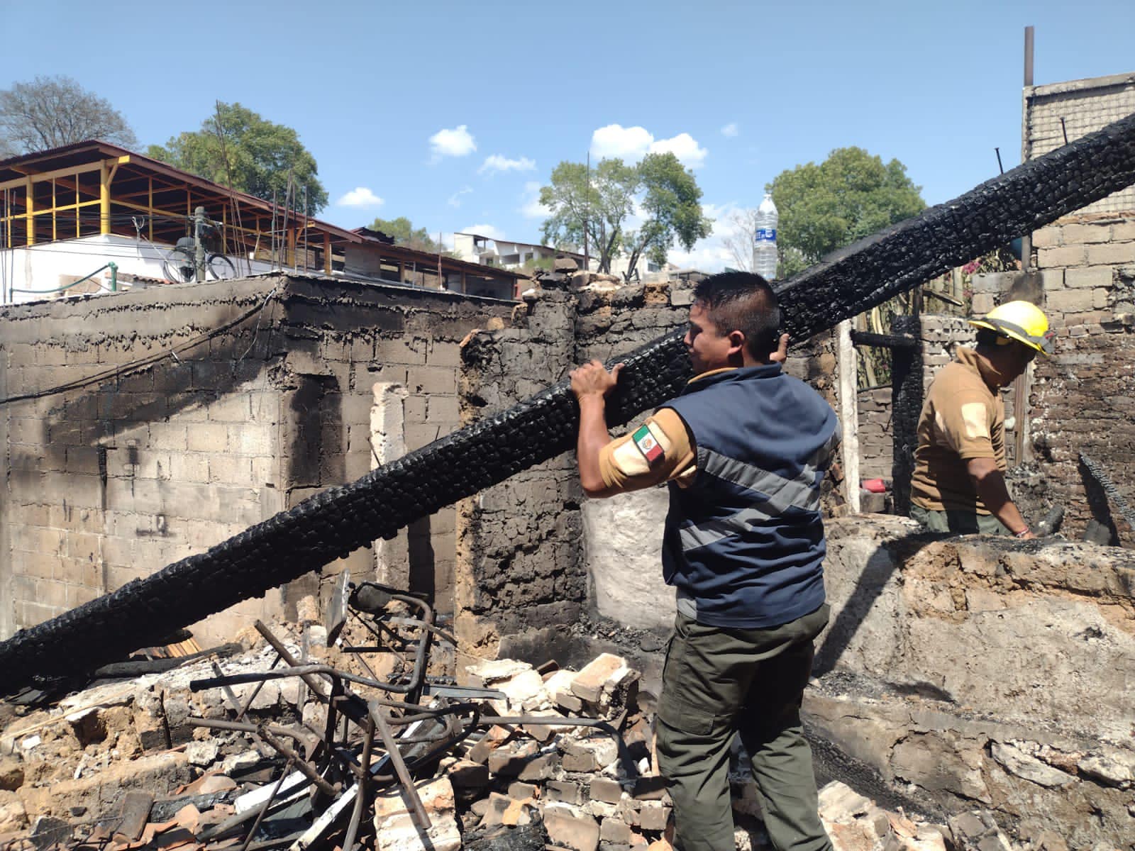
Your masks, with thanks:
M 711 275 L 693 288 L 717 331 L 741 331 L 749 354 L 767 361 L 780 343 L 780 304 L 768 281 L 754 272 Z

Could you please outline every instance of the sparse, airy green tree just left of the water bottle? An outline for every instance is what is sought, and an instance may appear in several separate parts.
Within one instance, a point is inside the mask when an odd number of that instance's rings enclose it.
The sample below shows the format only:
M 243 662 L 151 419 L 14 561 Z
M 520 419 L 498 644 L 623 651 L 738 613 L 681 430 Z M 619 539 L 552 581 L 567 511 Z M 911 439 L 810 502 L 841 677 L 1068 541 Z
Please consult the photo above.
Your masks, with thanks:
M 650 153 L 632 166 L 599 160 L 590 174 L 581 162 L 561 162 L 540 189 L 540 203 L 552 210 L 544 241 L 578 250 L 586 231 L 599 271 L 609 273 L 612 261 L 625 254 L 630 279 L 644 256 L 662 264 L 675 242 L 689 251 L 709 235 L 713 222 L 700 199 L 693 172 L 673 153 Z M 632 230 L 628 224 L 636 212 L 644 220 Z

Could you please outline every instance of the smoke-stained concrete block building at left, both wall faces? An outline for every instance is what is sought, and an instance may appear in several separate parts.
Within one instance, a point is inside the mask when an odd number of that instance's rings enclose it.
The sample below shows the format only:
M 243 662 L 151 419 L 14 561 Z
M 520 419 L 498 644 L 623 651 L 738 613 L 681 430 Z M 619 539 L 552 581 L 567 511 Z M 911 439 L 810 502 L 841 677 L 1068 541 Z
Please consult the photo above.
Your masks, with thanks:
M 414 446 L 452 430 L 457 344 L 511 306 L 268 278 L 0 311 L 0 634 L 365 473 L 377 380 L 436 399 L 406 413 Z M 436 528 L 448 575 L 453 521 Z M 352 558 L 373 571 L 372 554 Z M 200 634 L 227 639 L 312 591 L 303 578 Z

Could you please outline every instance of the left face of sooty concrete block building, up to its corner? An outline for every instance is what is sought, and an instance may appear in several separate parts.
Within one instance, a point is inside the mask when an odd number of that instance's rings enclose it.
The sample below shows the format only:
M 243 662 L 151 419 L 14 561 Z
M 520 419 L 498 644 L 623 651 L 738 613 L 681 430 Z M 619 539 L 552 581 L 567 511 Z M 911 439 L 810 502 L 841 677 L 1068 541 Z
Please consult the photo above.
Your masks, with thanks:
M 255 380 L 264 340 L 254 321 L 218 331 L 258 313 L 266 292 L 262 281 L 135 290 L 0 313 L 6 634 L 283 507 L 278 405 Z

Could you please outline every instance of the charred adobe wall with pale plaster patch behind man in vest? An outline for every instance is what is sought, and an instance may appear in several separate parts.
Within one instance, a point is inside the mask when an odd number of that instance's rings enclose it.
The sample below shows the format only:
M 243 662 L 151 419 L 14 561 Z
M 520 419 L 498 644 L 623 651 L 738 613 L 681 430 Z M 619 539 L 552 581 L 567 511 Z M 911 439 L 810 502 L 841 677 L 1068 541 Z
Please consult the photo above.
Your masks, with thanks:
M 687 281 L 615 287 L 599 280 L 539 292 L 512 327 L 466 342 L 463 420 L 504 410 L 579 363 L 616 361 L 683 326 L 691 302 Z M 835 404 L 831 334 L 793 344 L 788 371 Z M 829 495 L 827 502 L 836 500 Z M 662 582 L 658 555 L 666 505 L 665 488 L 586 499 L 571 453 L 465 500 L 457 571 L 464 647 L 527 658 L 536 648 L 546 651 L 585 612 L 639 629 L 667 626 L 673 591 Z

